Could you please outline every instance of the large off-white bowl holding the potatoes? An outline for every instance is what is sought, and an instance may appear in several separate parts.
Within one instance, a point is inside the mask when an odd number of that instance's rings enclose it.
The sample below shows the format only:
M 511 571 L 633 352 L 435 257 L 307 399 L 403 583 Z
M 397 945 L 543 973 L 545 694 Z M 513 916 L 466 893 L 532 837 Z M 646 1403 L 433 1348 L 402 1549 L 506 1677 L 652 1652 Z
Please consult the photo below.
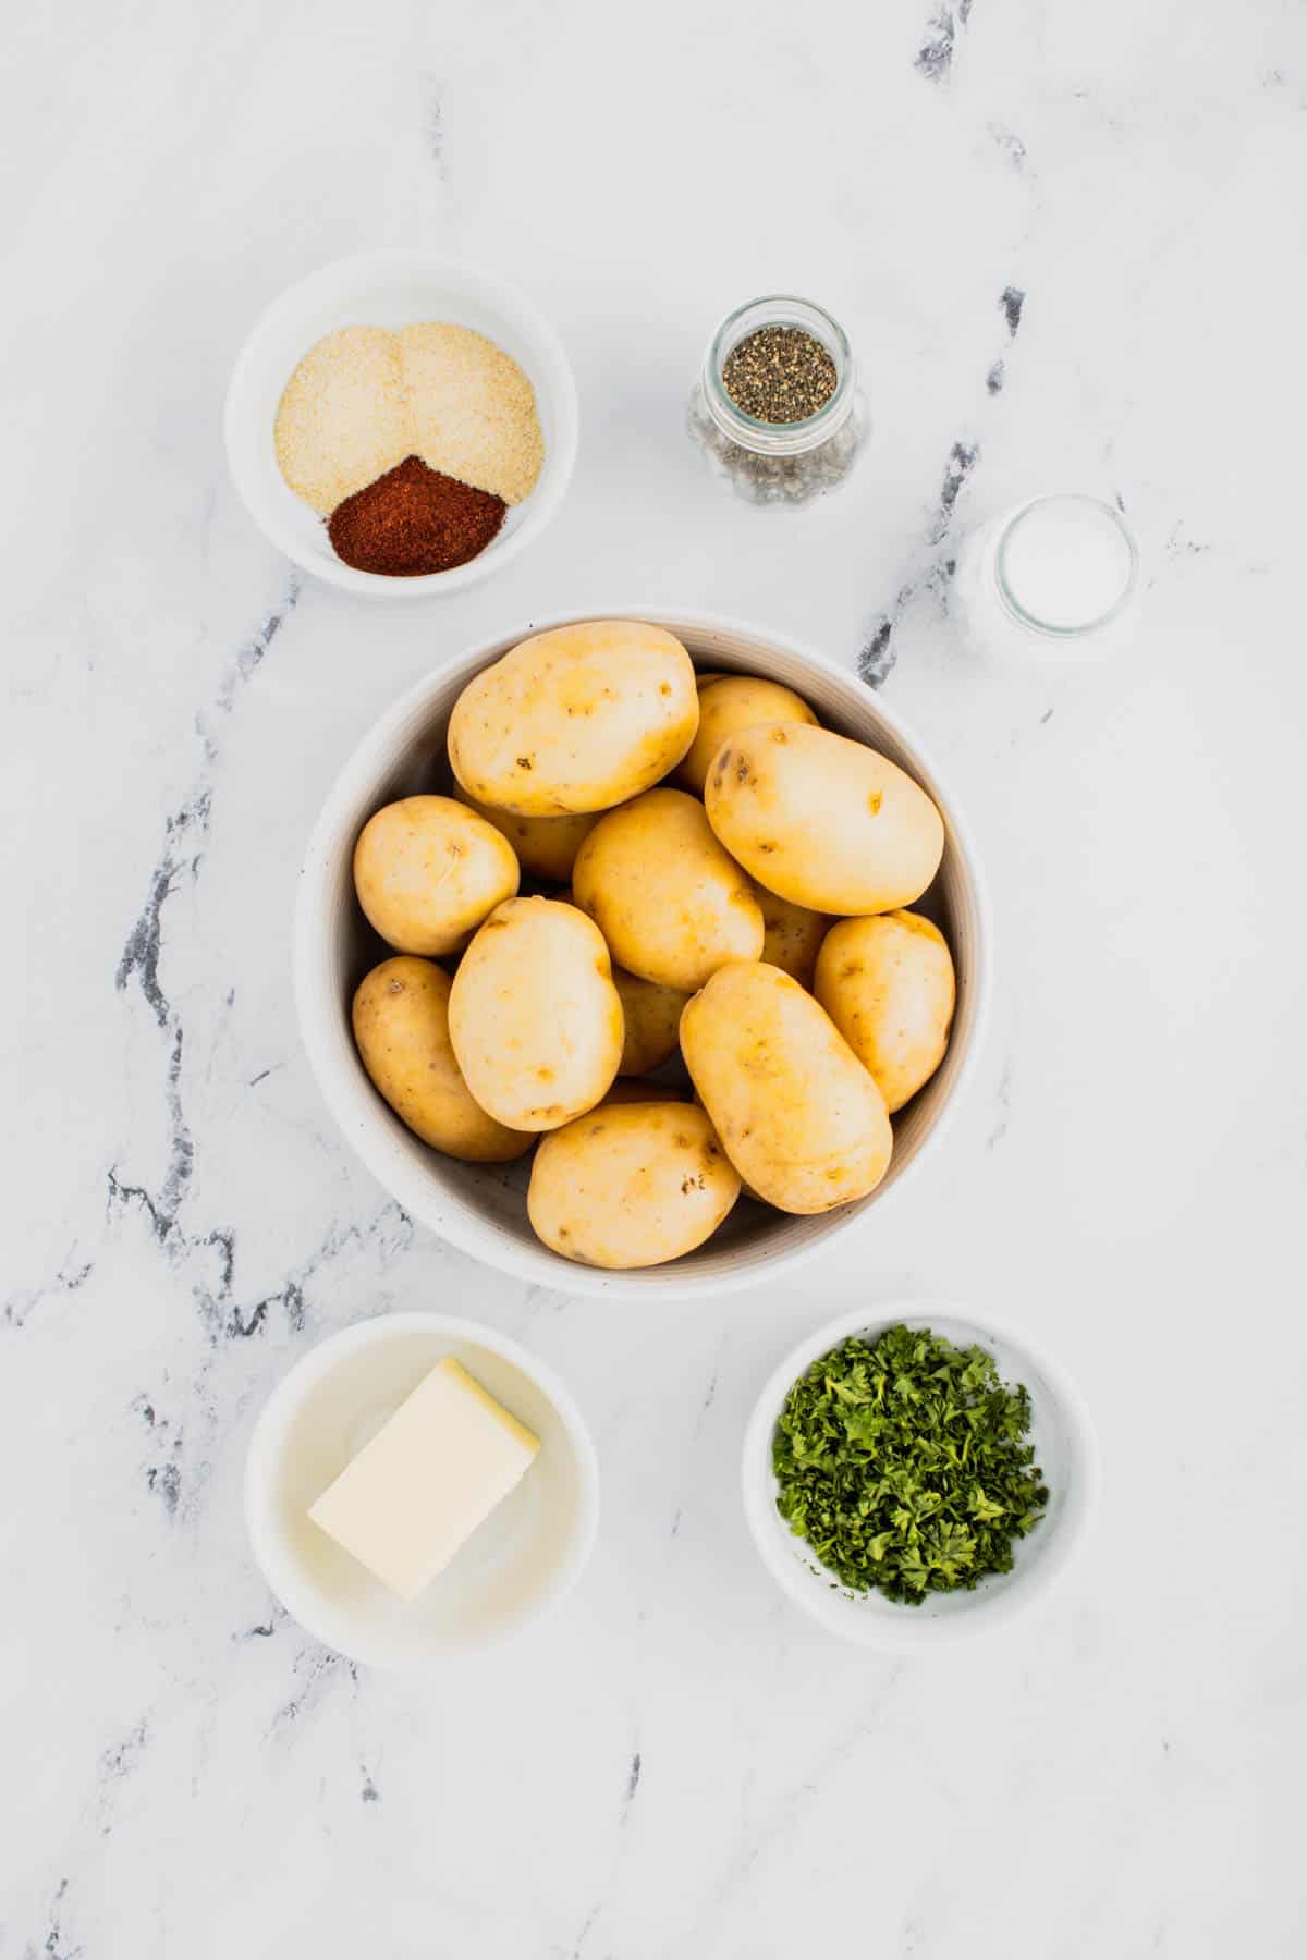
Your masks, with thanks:
M 786 1217 L 741 1200 L 725 1225 L 684 1258 L 639 1272 L 600 1272 L 558 1258 L 527 1221 L 523 1164 L 460 1164 L 427 1149 L 368 1082 L 349 1027 L 351 994 L 388 949 L 366 925 L 353 890 L 359 831 L 382 804 L 449 784 L 445 729 L 460 690 L 527 633 L 572 619 L 651 619 L 676 633 L 698 666 L 766 674 L 796 688 L 827 727 L 880 749 L 929 790 L 944 817 L 944 858 L 923 909 L 948 935 L 958 970 L 958 1007 L 943 1066 L 896 1117 L 890 1170 L 870 1198 L 817 1217 Z M 294 980 L 300 1029 L 327 1107 L 372 1176 L 406 1211 L 476 1258 L 523 1280 L 570 1294 L 709 1294 L 774 1278 L 837 1233 L 864 1221 L 937 1143 L 978 1054 L 990 992 L 990 935 L 980 866 L 966 825 L 937 766 L 886 704 L 852 672 L 762 627 L 662 606 L 619 606 L 529 619 L 488 645 L 449 661 L 382 715 L 359 743 L 317 821 L 300 874 Z

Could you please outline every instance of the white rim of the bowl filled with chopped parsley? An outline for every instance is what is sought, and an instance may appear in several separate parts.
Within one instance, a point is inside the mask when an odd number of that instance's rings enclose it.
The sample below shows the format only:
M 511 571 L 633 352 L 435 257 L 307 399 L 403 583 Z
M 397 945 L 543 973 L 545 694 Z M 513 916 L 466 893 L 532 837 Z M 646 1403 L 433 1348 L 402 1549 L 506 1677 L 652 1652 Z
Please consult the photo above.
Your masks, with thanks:
M 990 1347 L 992 1350 L 995 1347 L 1007 1348 L 1011 1354 L 1029 1360 L 1031 1372 L 1044 1380 L 1058 1409 L 1064 1411 L 1066 1433 L 1072 1439 L 1076 1456 L 1076 1486 L 1070 1495 L 1068 1511 L 1058 1521 L 1054 1535 L 1046 1541 L 1046 1546 L 1041 1548 L 1039 1562 L 1023 1572 L 1015 1584 L 1005 1586 L 1001 1593 L 995 1592 L 993 1597 L 980 1603 L 984 1590 L 982 1582 L 974 1595 L 978 1603 L 970 1611 L 950 1613 L 946 1619 L 923 1619 L 915 1607 L 903 1605 L 901 1615 L 868 1615 L 854 1631 L 852 1621 L 841 1619 L 837 1623 L 833 1617 L 819 1611 L 819 1601 L 825 1601 L 827 1593 L 815 1592 L 809 1584 L 811 1574 L 807 1568 L 799 1564 L 788 1543 L 778 1537 L 772 1435 L 776 1433 L 776 1421 L 792 1386 L 821 1354 L 839 1347 L 839 1343 L 847 1341 L 850 1335 L 876 1337 L 888 1327 L 897 1325 L 939 1327 L 943 1337 L 948 1341 L 956 1339 L 956 1331 L 966 1329 L 982 1347 Z M 1093 1419 L 1089 1415 L 1089 1405 L 1072 1376 L 1066 1374 L 1060 1362 L 1048 1356 L 1046 1348 L 1033 1343 L 1027 1333 L 1009 1327 L 1005 1321 L 995 1321 L 990 1315 L 976 1319 L 974 1313 L 950 1299 L 870 1301 L 866 1307 L 854 1307 L 848 1313 L 841 1313 L 837 1319 L 827 1321 L 823 1327 L 813 1329 L 813 1333 L 798 1341 L 772 1368 L 758 1399 L 752 1405 L 749 1423 L 745 1425 L 745 1443 L 741 1448 L 741 1495 L 745 1503 L 745 1521 L 758 1558 L 770 1576 L 776 1580 L 786 1597 L 792 1599 L 794 1605 L 825 1633 L 831 1633 L 835 1639 L 847 1641 L 852 1646 L 882 1648 L 884 1652 L 911 1652 L 921 1646 L 952 1646 L 956 1641 L 990 1633 L 995 1627 L 1007 1625 L 1019 1613 L 1025 1613 L 1027 1607 L 1031 1607 L 1056 1584 L 1066 1570 L 1072 1552 L 1084 1544 L 1097 1509 L 1099 1482 L 1101 1462 Z M 837 1580 L 831 1580 L 831 1584 L 839 1586 Z

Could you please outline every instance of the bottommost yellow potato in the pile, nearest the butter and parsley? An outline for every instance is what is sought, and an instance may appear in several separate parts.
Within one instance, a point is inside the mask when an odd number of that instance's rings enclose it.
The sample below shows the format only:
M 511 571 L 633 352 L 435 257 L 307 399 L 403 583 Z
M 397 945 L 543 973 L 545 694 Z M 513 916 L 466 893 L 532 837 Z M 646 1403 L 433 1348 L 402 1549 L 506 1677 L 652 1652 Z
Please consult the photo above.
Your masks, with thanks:
M 721 1225 L 739 1178 L 692 1103 L 605 1103 L 557 1129 L 531 1166 L 545 1245 L 584 1266 L 660 1266 Z

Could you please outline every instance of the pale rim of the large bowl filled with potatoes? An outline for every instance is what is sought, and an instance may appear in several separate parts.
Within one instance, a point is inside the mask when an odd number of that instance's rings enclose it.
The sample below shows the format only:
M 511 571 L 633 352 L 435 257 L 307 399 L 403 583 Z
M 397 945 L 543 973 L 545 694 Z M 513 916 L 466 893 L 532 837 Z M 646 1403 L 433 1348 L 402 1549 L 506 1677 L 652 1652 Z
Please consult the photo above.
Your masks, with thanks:
M 790 1272 L 807 1258 L 813 1258 L 823 1245 L 829 1245 L 829 1241 L 841 1233 L 866 1227 L 870 1215 L 874 1213 L 874 1205 L 868 1205 L 852 1215 L 827 1213 L 827 1217 L 831 1217 L 829 1233 L 803 1239 L 799 1245 L 774 1252 L 766 1262 L 766 1270 L 760 1270 L 750 1262 L 743 1272 L 682 1274 L 678 1278 L 676 1260 L 666 1266 L 645 1266 L 639 1268 L 639 1272 L 611 1272 L 598 1266 L 572 1264 L 543 1245 L 539 1250 L 521 1249 L 506 1239 L 496 1225 L 462 1211 L 459 1205 L 441 1203 L 439 1194 L 433 1190 L 425 1172 L 402 1156 L 394 1139 L 382 1127 L 378 1107 L 374 1107 L 376 1092 L 370 1086 L 366 1086 L 366 1096 L 363 1092 L 366 1078 L 363 1078 L 363 1068 L 357 1058 L 351 1054 L 351 1066 L 339 1066 L 339 1002 L 331 1004 L 327 990 L 319 986 L 319 915 L 325 909 L 323 900 L 327 896 L 323 890 L 327 858 L 339 837 L 343 819 L 355 804 L 361 782 L 372 776 L 378 760 L 390 753 L 394 735 L 410 721 L 427 696 L 439 694 L 449 686 L 451 676 L 466 672 L 466 678 L 470 678 L 478 672 L 480 666 L 486 664 L 492 649 L 506 643 L 511 645 L 515 639 L 527 639 L 533 633 L 549 633 L 560 625 L 576 625 L 586 619 L 647 619 L 656 625 L 666 625 L 672 633 L 690 631 L 747 635 L 762 641 L 764 645 L 784 647 L 788 653 L 798 655 L 801 661 L 819 668 L 823 674 L 835 678 L 847 688 L 866 688 L 866 682 L 862 682 L 850 668 L 841 666 L 837 661 L 817 653 L 807 643 L 794 639 L 790 633 L 778 633 L 772 627 L 756 625 L 733 613 L 696 612 L 694 608 L 684 606 L 586 606 L 574 612 L 529 619 L 519 629 L 494 633 L 478 641 L 474 647 L 464 647 L 453 659 L 445 661 L 439 668 L 433 668 L 408 688 L 372 723 L 347 757 L 339 776 L 327 792 L 327 800 L 314 825 L 300 868 L 294 909 L 292 968 L 300 1039 L 304 1043 L 314 1080 L 317 1082 L 317 1092 L 359 1160 L 376 1178 L 382 1190 L 396 1198 L 406 1211 L 421 1219 L 421 1223 L 437 1233 L 437 1237 L 459 1247 L 459 1250 L 496 1266 L 500 1272 L 509 1272 L 513 1278 L 527 1280 L 531 1286 L 545 1286 L 557 1294 L 611 1298 L 615 1294 L 633 1294 L 637 1290 L 631 1284 L 633 1280 L 637 1282 L 639 1292 L 649 1299 L 688 1298 L 692 1294 L 703 1298 L 711 1294 L 731 1294 L 747 1286 L 770 1284 L 780 1274 Z M 911 753 L 923 774 L 931 778 L 935 790 L 939 790 L 941 772 L 935 766 L 931 751 L 925 749 L 915 731 L 911 731 L 903 723 L 901 715 L 888 708 L 880 696 L 876 696 L 876 713 L 892 729 L 896 739 L 901 741 L 901 745 Z M 976 904 L 976 960 L 974 968 L 968 968 L 968 986 L 972 988 L 970 1047 L 962 1056 L 948 1102 L 931 1125 L 931 1133 L 925 1137 L 909 1164 L 899 1170 L 896 1182 L 888 1190 L 876 1194 L 876 1205 L 894 1201 L 903 1188 L 909 1188 L 919 1174 L 923 1160 L 929 1160 L 939 1143 L 948 1135 L 966 1092 L 976 1080 L 990 1025 L 992 945 L 988 886 L 968 819 L 956 808 L 950 794 L 944 794 L 943 800 L 948 809 L 950 841 L 956 845 L 964 860 L 966 878 Z M 382 1164 L 384 1168 L 380 1168 Z

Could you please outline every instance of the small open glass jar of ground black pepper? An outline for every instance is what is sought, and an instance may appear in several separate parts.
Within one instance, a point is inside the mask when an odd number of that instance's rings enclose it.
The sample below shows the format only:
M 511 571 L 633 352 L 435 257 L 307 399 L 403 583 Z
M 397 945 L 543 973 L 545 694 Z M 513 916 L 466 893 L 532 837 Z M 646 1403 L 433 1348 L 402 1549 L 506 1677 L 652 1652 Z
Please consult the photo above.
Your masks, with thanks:
M 690 435 L 750 504 L 807 504 L 839 488 L 866 427 L 845 329 L 794 294 L 729 314 L 690 392 Z

